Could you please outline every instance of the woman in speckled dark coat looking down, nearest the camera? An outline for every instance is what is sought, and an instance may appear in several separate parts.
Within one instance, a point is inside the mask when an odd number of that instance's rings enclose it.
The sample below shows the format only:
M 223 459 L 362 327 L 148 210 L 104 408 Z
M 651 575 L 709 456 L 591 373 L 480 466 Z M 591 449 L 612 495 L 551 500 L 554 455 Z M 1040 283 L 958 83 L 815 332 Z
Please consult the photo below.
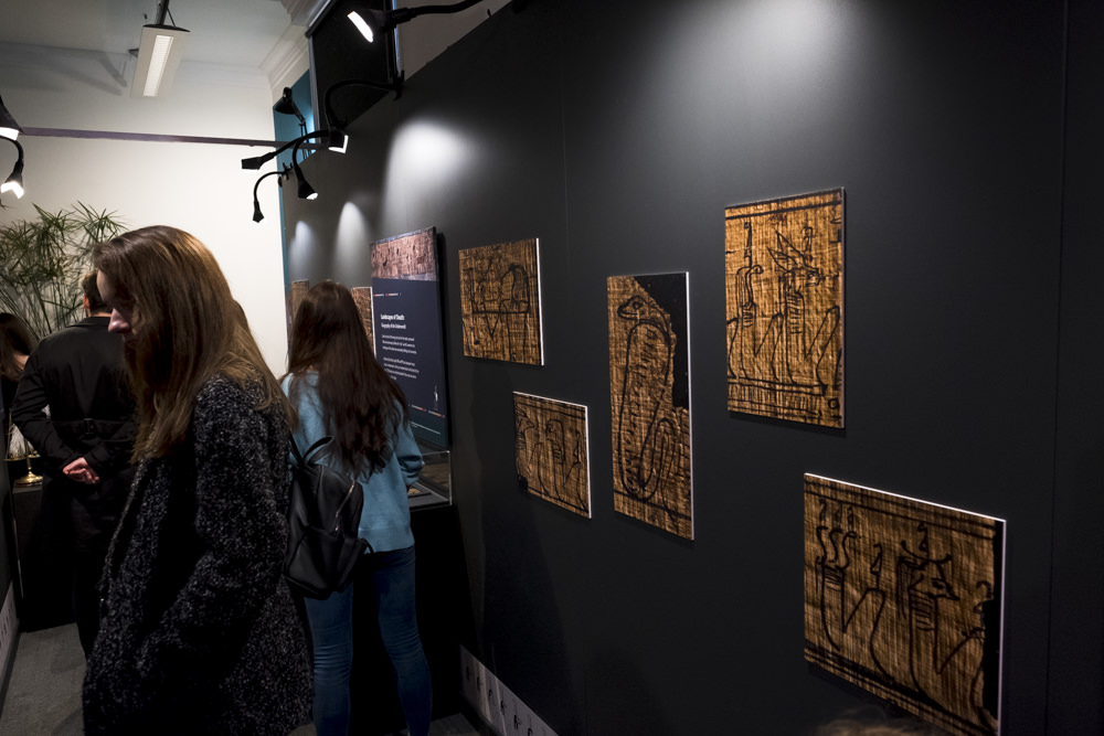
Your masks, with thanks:
M 138 435 L 84 683 L 86 734 L 273 734 L 310 703 L 282 575 L 289 406 L 211 253 L 172 227 L 93 252 Z

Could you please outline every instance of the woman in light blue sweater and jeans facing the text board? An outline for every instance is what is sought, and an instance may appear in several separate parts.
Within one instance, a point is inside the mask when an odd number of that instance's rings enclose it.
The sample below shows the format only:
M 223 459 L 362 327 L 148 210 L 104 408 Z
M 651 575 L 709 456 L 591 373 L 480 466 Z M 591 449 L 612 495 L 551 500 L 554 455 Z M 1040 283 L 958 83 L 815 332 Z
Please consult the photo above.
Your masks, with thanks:
M 306 450 L 330 436 L 322 462 L 357 478 L 364 492 L 360 535 L 372 545 L 355 583 L 325 600 L 307 598 L 315 655 L 315 728 L 349 730 L 353 588 L 370 585 L 411 736 L 429 732 L 432 686 L 414 606 L 414 535 L 407 489 L 422 470 L 406 397 L 372 354 L 346 287 L 316 284 L 291 326 L 284 388 L 298 413 L 295 441 Z M 363 598 L 362 598 L 363 599 Z

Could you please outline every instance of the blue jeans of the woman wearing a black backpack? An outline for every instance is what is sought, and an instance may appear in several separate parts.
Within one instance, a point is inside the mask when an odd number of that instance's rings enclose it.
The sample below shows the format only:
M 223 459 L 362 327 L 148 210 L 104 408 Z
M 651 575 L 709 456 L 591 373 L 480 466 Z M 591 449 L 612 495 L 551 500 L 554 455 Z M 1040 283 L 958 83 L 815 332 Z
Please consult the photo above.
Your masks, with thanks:
M 433 711 L 433 684 L 417 631 L 414 547 L 364 555 L 360 564 L 370 568 L 380 637 L 395 670 L 406 725 L 411 736 L 426 736 Z M 315 649 L 314 714 L 318 736 L 346 736 L 349 732 L 352 599 L 350 585 L 326 600 L 304 601 Z

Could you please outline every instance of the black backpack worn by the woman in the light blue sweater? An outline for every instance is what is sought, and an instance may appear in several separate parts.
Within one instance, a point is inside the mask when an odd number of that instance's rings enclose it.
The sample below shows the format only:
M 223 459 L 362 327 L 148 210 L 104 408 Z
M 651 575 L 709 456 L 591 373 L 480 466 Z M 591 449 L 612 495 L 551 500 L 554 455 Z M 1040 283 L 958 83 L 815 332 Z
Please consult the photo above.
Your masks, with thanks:
M 360 538 L 364 493 L 360 483 L 312 461 L 332 438 L 322 437 L 302 455 L 291 438 L 291 504 L 288 510 L 284 577 L 310 598 L 328 598 L 352 582 L 353 568 L 367 548 Z

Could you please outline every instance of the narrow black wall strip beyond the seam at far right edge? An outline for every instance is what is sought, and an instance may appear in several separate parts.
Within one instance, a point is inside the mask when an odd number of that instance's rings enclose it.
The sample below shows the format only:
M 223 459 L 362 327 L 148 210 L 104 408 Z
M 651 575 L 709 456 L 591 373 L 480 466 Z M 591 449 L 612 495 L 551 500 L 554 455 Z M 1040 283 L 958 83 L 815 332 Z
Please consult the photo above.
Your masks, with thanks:
M 1104 3 L 1071 2 L 1058 345 L 1051 734 L 1104 733 Z

